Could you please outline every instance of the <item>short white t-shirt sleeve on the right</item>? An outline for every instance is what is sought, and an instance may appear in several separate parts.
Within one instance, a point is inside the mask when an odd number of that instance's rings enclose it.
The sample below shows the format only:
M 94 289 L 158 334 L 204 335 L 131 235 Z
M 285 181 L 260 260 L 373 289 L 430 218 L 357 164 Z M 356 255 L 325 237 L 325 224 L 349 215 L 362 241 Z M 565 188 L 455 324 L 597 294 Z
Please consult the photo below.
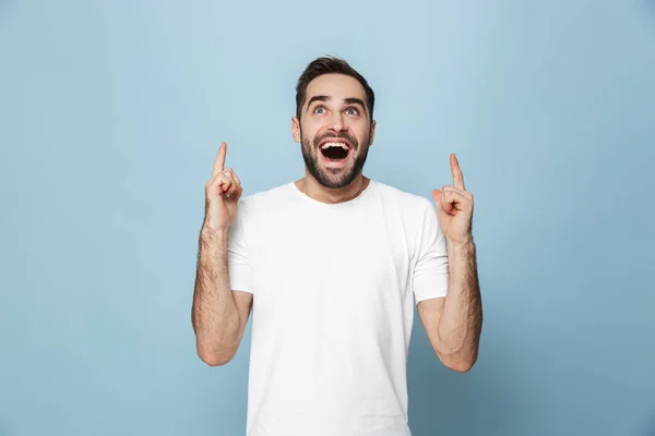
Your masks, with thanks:
M 448 246 L 439 226 L 437 209 L 426 198 L 413 271 L 415 301 L 445 296 L 448 293 Z

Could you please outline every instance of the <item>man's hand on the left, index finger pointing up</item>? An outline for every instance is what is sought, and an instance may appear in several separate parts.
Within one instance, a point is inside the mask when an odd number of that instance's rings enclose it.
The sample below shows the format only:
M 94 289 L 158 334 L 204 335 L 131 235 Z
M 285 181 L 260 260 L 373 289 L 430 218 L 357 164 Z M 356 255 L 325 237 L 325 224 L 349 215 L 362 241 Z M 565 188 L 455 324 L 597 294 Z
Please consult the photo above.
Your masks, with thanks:
M 205 183 L 205 219 L 203 230 L 226 232 L 237 215 L 243 189 L 231 168 L 225 169 L 227 144 L 221 143 L 212 178 Z

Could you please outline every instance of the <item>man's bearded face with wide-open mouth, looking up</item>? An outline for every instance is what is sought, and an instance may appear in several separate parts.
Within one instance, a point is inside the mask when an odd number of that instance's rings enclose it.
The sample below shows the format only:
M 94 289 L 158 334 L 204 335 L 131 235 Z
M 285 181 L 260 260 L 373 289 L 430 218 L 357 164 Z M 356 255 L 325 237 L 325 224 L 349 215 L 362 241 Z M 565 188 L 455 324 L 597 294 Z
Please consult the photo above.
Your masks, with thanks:
M 310 174 L 325 187 L 350 184 L 374 136 L 364 86 L 347 75 L 321 75 L 309 83 L 300 113 L 291 128 Z

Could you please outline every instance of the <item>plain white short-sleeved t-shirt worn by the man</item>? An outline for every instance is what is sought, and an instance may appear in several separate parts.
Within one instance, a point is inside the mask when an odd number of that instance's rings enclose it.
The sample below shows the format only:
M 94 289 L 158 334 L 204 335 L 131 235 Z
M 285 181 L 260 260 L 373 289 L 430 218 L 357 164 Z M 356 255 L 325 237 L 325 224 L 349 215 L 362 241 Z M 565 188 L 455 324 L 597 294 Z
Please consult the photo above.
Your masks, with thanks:
M 414 304 L 448 290 L 432 202 L 290 182 L 243 196 L 228 241 L 230 287 L 253 294 L 247 436 L 409 436 Z

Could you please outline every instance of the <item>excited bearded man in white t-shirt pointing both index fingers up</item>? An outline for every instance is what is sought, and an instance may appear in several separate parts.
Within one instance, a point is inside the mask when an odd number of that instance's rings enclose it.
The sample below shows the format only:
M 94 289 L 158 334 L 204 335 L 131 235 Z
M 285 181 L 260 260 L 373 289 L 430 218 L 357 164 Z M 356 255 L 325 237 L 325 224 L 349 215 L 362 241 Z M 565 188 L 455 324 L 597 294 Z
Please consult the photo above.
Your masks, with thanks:
M 454 155 L 437 210 L 362 175 L 374 94 L 345 61 L 314 60 L 296 90 L 305 178 L 241 199 L 223 143 L 205 184 L 198 353 L 229 362 L 252 308 L 248 436 L 407 436 L 415 302 L 445 366 L 477 359 L 473 195 Z

